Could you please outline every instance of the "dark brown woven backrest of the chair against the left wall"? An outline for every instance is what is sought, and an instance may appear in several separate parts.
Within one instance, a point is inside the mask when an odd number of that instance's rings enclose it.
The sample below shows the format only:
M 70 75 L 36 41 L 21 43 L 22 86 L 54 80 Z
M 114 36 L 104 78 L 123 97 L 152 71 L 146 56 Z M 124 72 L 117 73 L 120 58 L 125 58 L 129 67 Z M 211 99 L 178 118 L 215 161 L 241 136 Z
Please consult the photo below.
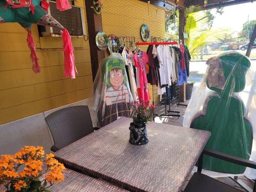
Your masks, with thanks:
M 45 118 L 54 145 L 63 148 L 93 132 L 88 106 L 62 108 Z

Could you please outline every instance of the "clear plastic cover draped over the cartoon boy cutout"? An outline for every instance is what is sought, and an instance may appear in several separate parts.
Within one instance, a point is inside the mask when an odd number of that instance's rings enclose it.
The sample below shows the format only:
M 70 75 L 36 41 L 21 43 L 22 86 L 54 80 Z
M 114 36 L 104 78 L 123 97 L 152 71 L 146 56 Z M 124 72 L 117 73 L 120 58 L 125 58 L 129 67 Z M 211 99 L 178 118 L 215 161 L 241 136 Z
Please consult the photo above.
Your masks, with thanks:
M 111 53 L 100 62 L 93 88 L 94 125 L 102 127 L 117 117 L 132 117 L 133 96 L 120 53 Z

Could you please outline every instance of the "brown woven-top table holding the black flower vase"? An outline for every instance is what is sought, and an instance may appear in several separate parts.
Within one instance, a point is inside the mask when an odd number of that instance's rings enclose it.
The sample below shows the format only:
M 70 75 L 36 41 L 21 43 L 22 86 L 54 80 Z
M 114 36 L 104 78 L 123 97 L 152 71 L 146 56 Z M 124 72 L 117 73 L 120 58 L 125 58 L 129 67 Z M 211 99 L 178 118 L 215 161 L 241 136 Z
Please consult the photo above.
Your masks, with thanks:
M 59 161 L 132 192 L 180 192 L 210 132 L 147 124 L 149 143 L 128 142 L 132 119 L 120 118 L 55 153 Z

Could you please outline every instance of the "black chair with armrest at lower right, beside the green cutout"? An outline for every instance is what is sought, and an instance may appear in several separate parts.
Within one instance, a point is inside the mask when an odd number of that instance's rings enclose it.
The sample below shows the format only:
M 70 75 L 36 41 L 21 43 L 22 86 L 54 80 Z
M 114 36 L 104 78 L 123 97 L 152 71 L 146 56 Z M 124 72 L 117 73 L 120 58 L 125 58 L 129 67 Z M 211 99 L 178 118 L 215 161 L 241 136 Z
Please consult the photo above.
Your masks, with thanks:
M 189 180 L 184 192 L 242 192 L 239 189 L 231 187 L 225 183 L 215 180 L 201 173 L 203 165 L 203 155 L 213 156 L 224 161 L 235 163 L 249 168 L 256 169 L 256 163 L 240 157 L 219 153 L 212 150 L 205 149 L 198 160 L 197 172 Z M 256 192 L 256 184 L 254 184 L 253 192 Z

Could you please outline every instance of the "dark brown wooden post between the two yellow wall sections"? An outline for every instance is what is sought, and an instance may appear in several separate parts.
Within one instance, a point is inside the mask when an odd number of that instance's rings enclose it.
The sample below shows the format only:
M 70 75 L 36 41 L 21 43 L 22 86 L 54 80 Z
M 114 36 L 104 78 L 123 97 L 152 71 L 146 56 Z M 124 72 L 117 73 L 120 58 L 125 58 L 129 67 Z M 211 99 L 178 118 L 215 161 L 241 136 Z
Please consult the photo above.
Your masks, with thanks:
M 93 0 L 85 0 L 85 10 L 86 10 L 91 65 L 92 65 L 92 76 L 94 80 L 96 73 L 98 71 L 99 62 L 105 58 L 105 52 L 98 49 L 95 42 L 95 37 L 97 33 L 99 31 L 102 31 L 101 14 L 95 14 L 91 6 L 93 6 Z

